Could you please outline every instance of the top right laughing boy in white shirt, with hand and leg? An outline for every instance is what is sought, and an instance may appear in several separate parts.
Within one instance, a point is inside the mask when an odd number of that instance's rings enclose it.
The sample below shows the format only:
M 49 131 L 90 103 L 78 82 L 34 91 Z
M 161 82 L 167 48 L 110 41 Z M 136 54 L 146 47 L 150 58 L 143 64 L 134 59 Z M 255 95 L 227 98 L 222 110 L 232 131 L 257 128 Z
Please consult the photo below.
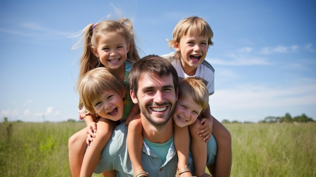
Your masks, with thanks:
M 169 47 L 174 47 L 176 52 L 163 56 L 172 62 L 179 77 L 202 78 L 206 82 L 209 95 L 214 93 L 214 69 L 205 61 L 205 57 L 208 47 L 213 45 L 212 37 L 213 31 L 205 20 L 199 17 L 182 19 L 173 31 L 173 39 L 169 40 Z M 201 118 L 200 131 L 197 133 L 205 142 L 213 133 L 218 145 L 217 165 L 208 169 L 215 176 L 229 176 L 232 162 L 231 135 L 210 114 L 209 106 L 201 112 Z

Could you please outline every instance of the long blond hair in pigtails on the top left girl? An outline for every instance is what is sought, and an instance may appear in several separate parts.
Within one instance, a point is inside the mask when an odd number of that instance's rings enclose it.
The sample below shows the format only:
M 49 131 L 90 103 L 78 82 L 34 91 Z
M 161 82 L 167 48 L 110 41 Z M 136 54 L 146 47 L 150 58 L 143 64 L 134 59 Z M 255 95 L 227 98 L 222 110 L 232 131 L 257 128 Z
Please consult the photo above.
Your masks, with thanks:
M 134 29 L 129 19 L 104 20 L 96 24 L 89 24 L 80 34 L 82 33 L 84 33 L 84 35 L 79 42 L 75 44 L 77 45 L 81 41 L 84 41 L 83 53 L 80 58 L 79 80 L 88 71 L 97 67 L 104 67 L 91 51 L 91 46 L 97 48 L 98 41 L 102 35 L 123 36 L 126 43 L 130 45 L 130 49 L 127 53 L 127 61 L 134 63 L 139 60 L 137 46 L 135 44 Z

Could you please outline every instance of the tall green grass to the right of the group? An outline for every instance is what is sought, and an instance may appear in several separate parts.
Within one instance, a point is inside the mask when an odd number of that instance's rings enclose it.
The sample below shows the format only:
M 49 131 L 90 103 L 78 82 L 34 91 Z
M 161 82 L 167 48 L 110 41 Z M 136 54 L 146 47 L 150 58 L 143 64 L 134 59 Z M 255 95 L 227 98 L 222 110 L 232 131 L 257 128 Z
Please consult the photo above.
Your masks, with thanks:
M 227 124 L 232 176 L 316 176 L 316 124 Z

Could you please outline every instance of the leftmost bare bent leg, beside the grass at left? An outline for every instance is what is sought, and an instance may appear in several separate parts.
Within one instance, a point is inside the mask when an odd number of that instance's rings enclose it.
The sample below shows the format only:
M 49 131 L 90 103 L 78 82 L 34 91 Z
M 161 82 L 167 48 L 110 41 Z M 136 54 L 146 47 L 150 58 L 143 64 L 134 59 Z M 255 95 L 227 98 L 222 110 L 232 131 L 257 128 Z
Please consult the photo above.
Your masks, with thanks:
M 86 151 L 86 128 L 71 136 L 68 140 L 69 165 L 72 176 L 79 176 L 81 164 Z

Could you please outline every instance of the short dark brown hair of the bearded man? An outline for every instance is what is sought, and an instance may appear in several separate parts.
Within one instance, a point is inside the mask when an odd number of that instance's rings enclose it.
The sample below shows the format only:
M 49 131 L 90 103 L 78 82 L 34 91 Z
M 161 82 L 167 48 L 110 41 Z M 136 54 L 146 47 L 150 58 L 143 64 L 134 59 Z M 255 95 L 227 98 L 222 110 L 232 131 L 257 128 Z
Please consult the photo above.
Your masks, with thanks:
M 172 74 L 175 90 L 178 88 L 179 78 L 176 69 L 161 56 L 147 55 L 133 65 L 128 79 L 130 89 L 135 95 L 137 95 L 138 91 L 138 80 L 140 77 L 143 77 L 144 74 L 149 76 L 156 74 L 160 77 Z

